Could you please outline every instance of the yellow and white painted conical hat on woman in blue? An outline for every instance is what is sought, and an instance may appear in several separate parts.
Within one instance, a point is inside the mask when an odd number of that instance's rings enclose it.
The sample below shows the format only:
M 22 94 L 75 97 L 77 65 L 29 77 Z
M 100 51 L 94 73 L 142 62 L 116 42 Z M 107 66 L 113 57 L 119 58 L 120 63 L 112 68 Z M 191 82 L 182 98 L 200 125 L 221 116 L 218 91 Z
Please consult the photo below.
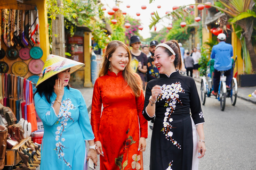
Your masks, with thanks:
M 36 84 L 36 88 L 38 84 L 43 81 L 49 79 L 55 74 L 58 74 L 64 70 L 70 68 L 70 73 L 73 73 L 84 66 L 84 63 L 76 62 L 74 60 L 70 60 L 68 58 L 64 58 L 58 55 L 50 54 L 44 63 L 43 70 L 39 76 L 39 79 Z

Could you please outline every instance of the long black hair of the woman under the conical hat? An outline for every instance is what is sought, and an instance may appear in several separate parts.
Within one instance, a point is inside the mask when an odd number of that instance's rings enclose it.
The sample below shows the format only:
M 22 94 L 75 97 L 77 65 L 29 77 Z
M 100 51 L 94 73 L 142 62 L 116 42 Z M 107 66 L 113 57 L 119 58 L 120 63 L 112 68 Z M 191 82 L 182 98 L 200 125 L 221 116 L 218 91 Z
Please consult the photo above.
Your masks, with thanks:
M 58 79 L 57 74 L 53 75 L 49 79 L 43 81 L 37 86 L 35 94 L 38 92 L 40 97 L 43 95 L 45 96 L 46 100 L 48 103 L 51 103 L 50 98 L 52 97 L 52 93 L 54 92 L 54 85 L 55 85 L 55 80 Z M 68 84 L 68 89 L 69 89 L 69 84 Z M 34 95 L 35 96 L 35 95 Z

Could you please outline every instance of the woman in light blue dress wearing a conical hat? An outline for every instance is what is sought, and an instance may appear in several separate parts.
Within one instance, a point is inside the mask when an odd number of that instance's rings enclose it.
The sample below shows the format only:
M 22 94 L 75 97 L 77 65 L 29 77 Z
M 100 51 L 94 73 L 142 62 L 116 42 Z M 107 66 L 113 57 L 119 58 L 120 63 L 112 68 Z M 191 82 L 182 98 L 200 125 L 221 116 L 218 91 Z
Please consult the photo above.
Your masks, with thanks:
M 84 66 L 68 58 L 49 55 L 37 82 L 35 108 L 44 125 L 40 169 L 87 169 L 84 160 L 97 165 L 94 134 L 84 98 L 69 86 L 70 73 Z M 42 71 L 43 72 L 43 71 Z M 74 133 L 75 132 L 75 133 Z M 89 142 L 86 156 L 85 140 Z M 79 158 L 79 159 L 78 159 Z

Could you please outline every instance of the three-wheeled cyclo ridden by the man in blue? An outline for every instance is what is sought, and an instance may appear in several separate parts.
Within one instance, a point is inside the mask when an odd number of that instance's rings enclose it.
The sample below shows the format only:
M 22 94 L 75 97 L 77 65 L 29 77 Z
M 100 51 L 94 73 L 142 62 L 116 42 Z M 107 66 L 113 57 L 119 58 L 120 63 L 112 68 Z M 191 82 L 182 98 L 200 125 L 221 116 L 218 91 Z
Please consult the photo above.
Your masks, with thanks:
M 237 57 L 236 57 L 237 59 Z M 235 67 L 236 60 L 234 61 L 232 58 L 232 70 Z M 203 77 L 201 80 L 201 101 L 202 104 L 205 104 L 206 96 L 211 97 L 212 91 L 213 91 L 213 72 L 214 72 L 214 59 L 210 59 L 210 61 L 207 63 L 207 70 L 206 70 L 206 77 Z M 237 98 L 237 81 L 236 78 L 232 78 L 231 80 L 231 86 L 230 91 L 227 92 L 226 88 L 226 76 L 224 75 L 225 71 L 221 71 L 220 75 L 220 84 L 219 84 L 219 90 L 217 98 L 220 101 L 220 108 L 221 111 L 224 111 L 225 105 L 226 105 L 226 98 L 230 97 L 231 104 L 235 106 L 236 104 L 236 98 Z M 232 72 L 232 71 L 231 71 Z M 233 73 L 232 73 L 233 75 Z

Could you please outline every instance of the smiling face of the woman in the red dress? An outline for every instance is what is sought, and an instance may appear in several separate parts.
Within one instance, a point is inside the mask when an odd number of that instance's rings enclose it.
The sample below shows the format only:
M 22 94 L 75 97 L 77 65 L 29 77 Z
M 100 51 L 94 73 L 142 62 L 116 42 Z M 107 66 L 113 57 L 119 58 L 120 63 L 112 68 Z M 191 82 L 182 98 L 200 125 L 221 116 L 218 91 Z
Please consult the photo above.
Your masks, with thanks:
M 111 65 L 111 72 L 117 74 L 119 71 L 123 71 L 129 62 L 127 50 L 122 46 L 117 47 L 115 52 L 109 58 L 109 61 Z

